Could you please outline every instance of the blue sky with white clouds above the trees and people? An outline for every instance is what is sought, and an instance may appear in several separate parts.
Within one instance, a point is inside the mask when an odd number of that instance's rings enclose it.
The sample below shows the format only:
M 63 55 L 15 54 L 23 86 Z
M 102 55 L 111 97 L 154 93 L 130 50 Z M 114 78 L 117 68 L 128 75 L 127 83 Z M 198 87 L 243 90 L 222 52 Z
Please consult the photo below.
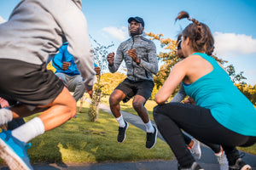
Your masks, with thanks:
M 1 0 L 0 22 L 8 20 L 18 0 Z M 218 57 L 233 64 L 237 73 L 244 71 L 245 82 L 256 84 L 256 1 L 255 0 L 82 0 L 88 30 L 103 45 L 119 43 L 128 38 L 127 19 L 141 16 L 145 31 L 176 39 L 188 20 L 174 22 L 185 10 L 210 27 L 215 38 Z M 156 42 L 158 53 L 162 50 Z M 226 66 L 226 65 L 224 65 Z

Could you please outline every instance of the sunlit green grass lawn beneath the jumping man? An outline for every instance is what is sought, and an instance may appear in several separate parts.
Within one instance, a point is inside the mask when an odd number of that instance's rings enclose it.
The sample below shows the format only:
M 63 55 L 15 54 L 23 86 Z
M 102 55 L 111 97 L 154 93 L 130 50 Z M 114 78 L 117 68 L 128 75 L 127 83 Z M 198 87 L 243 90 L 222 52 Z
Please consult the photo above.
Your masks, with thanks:
M 99 112 L 97 122 L 89 122 L 89 105 L 61 127 L 32 139 L 27 150 L 32 163 L 96 163 L 104 161 L 172 160 L 169 146 L 160 139 L 154 148 L 145 148 L 146 133 L 130 124 L 124 143 L 117 142 L 118 123 L 112 115 Z M 78 103 L 79 104 L 79 103 Z M 38 115 L 34 115 L 38 116 Z M 29 116 L 26 121 L 34 116 Z M 3 163 L 1 160 L 0 163 Z

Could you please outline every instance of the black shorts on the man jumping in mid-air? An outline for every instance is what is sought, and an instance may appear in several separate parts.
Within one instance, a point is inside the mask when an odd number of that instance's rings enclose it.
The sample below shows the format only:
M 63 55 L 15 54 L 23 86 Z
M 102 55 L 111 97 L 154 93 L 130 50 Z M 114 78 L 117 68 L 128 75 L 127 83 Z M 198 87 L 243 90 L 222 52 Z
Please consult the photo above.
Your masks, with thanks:
M 154 82 L 151 80 L 140 80 L 140 81 L 131 81 L 128 78 L 121 83 L 115 89 L 119 89 L 125 94 L 125 99 L 123 102 L 129 101 L 135 95 L 141 95 L 143 98 L 148 100 L 152 94 L 154 88 Z

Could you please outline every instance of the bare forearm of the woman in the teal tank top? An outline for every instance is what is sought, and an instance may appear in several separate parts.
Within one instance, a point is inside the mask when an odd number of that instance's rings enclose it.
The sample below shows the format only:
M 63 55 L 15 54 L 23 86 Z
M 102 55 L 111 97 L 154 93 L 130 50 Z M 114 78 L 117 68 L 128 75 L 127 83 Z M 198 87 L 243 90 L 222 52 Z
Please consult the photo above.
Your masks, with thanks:
M 154 101 L 157 104 L 161 105 L 166 102 L 166 100 L 174 92 L 175 88 L 177 88 L 178 84 L 186 76 L 186 71 L 187 71 L 187 66 L 186 64 L 184 64 L 184 60 L 174 65 L 169 77 L 167 77 L 166 79 L 166 82 L 154 97 Z

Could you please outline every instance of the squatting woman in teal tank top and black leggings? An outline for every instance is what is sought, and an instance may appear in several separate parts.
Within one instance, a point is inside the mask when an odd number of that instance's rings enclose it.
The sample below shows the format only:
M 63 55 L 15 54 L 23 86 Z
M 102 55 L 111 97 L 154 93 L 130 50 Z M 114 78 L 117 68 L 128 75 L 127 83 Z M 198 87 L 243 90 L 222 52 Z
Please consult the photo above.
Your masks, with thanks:
M 166 82 L 155 95 L 154 120 L 178 161 L 178 169 L 202 169 L 191 156 L 182 131 L 202 143 L 221 144 L 230 170 L 249 170 L 236 146 L 256 143 L 256 110 L 236 88 L 229 75 L 211 56 L 214 48 L 207 25 L 181 12 L 176 20 L 187 18 L 189 24 L 182 37 L 185 59 L 172 68 Z M 179 83 L 196 105 L 166 103 Z

